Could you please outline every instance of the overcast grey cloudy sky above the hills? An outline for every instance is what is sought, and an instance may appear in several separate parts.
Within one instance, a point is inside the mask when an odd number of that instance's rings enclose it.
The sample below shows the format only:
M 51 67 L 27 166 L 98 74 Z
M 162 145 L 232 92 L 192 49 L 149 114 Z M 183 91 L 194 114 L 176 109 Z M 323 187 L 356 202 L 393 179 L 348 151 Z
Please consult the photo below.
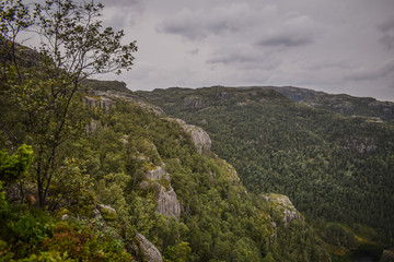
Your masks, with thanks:
M 394 0 L 103 0 L 131 91 L 299 86 L 394 102 Z

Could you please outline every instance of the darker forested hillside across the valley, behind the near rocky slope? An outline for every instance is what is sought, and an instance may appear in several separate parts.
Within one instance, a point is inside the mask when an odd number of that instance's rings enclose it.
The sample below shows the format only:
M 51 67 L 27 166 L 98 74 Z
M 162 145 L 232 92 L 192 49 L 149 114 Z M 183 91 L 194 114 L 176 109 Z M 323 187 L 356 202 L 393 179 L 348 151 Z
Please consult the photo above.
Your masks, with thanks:
M 138 94 L 202 127 L 212 151 L 234 165 L 250 191 L 288 195 L 322 236 L 331 225 L 325 223 L 335 222 L 356 236 L 367 226 L 370 240 L 394 245 L 393 126 L 305 106 L 259 87 Z

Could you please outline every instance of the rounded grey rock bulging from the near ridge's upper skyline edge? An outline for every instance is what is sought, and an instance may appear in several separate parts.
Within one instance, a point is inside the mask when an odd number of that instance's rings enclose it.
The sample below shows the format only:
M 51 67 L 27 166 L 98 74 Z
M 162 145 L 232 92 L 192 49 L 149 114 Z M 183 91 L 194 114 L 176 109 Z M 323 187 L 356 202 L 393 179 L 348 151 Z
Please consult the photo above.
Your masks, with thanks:
M 212 141 L 210 140 L 208 133 L 204 131 L 204 129 L 193 124 L 187 124 L 182 119 L 165 118 L 165 120 L 177 122 L 179 127 L 190 135 L 192 142 L 194 143 L 199 154 L 210 151 Z

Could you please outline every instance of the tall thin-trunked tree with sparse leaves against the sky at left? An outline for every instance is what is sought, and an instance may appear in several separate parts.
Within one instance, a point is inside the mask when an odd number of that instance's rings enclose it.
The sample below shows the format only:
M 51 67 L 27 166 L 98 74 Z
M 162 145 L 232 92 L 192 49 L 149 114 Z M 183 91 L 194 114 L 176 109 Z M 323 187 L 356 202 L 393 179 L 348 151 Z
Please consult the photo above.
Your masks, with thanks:
M 3 48 L 14 53 L 5 60 L 3 85 L 28 119 L 28 143 L 35 153 L 33 174 L 39 206 L 44 207 L 53 176 L 62 163 L 57 159 L 59 146 L 79 134 L 88 120 L 78 95 L 81 81 L 97 73 L 131 69 L 131 53 L 137 47 L 135 41 L 121 45 L 123 31 L 103 28 L 99 20 L 104 8 L 101 3 L 46 0 L 28 10 L 21 1 L 11 0 L 3 5 L 5 11 L 21 10 L 0 16 L 2 32 L 13 32 L 2 37 L 16 47 Z M 22 67 L 15 39 L 27 27 L 40 37 L 40 45 L 37 61 Z

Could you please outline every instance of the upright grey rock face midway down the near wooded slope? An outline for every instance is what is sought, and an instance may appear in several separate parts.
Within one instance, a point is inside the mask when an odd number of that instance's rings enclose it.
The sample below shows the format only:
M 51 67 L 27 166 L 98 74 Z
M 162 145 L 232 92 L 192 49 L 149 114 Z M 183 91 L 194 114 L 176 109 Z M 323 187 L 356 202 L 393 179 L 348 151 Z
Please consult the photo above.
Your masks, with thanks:
M 173 216 L 176 221 L 181 217 L 181 204 L 177 201 L 174 189 L 170 186 L 170 190 L 165 190 L 160 186 L 157 194 L 158 212 L 163 215 Z

